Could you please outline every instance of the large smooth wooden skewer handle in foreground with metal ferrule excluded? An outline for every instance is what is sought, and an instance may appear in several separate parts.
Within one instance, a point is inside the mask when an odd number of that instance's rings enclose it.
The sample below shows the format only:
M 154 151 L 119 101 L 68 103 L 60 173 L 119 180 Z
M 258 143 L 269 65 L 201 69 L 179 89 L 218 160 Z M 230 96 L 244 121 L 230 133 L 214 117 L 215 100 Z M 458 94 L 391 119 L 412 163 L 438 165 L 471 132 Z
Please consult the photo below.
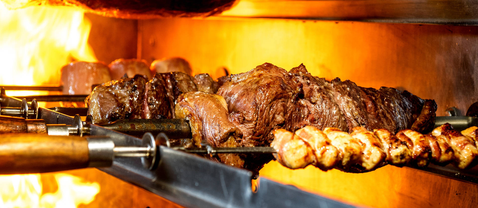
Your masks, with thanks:
M 0 174 L 43 173 L 89 166 L 88 140 L 79 136 L 0 136 Z

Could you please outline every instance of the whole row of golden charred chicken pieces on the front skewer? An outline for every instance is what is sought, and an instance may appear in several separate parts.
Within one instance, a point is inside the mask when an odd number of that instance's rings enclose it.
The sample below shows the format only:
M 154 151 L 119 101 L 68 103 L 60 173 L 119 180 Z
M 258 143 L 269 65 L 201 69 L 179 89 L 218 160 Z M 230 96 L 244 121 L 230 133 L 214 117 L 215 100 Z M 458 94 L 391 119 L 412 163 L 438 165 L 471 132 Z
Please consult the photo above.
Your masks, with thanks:
M 385 129 L 370 132 L 363 127 L 353 128 L 349 135 L 337 128 L 321 131 L 312 126 L 295 133 L 277 129 L 273 134 L 271 146 L 278 150 L 274 156 L 291 169 L 314 165 L 322 170 L 367 172 L 387 164 L 424 167 L 430 162 L 441 166 L 452 163 L 466 169 L 478 162 L 476 126 L 459 132 L 444 124 L 427 135 L 410 129 L 393 135 Z M 317 137 L 320 140 L 310 139 Z

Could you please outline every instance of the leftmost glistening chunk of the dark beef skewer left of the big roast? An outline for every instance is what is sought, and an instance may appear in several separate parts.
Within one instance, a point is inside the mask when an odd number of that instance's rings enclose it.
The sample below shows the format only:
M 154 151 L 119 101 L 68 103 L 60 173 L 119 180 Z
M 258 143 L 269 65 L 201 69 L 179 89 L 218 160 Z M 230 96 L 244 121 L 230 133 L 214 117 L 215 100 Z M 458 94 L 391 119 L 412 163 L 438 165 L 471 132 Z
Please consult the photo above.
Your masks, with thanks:
M 85 100 L 93 123 L 108 124 L 117 119 L 141 118 L 145 84 L 146 79 L 136 75 L 96 87 Z

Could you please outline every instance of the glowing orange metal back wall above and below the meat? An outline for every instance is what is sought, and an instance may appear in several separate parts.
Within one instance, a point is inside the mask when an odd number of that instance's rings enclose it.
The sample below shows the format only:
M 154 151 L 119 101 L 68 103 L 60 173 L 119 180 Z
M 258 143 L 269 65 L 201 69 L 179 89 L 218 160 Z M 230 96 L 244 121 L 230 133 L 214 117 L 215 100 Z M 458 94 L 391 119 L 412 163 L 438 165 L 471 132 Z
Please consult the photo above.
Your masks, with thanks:
M 304 63 L 313 75 L 360 86 L 396 87 L 462 113 L 478 101 L 478 27 L 265 19 L 138 21 L 138 55 L 181 56 L 194 73 L 249 71 L 264 62 L 289 70 Z M 373 207 L 475 206 L 478 186 L 386 166 L 366 174 L 271 162 L 261 176 Z

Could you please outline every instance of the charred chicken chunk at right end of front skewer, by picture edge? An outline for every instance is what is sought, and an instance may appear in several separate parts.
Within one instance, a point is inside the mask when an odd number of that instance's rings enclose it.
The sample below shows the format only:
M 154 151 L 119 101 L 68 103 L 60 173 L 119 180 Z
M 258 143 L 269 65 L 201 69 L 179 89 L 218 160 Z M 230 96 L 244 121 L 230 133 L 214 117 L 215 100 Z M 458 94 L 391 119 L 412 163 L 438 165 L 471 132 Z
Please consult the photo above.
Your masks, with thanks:
M 453 148 L 454 152 L 454 165 L 458 168 L 465 169 L 475 165 L 476 157 L 478 156 L 478 149 L 475 146 L 475 142 L 462 135 L 460 132 L 453 129 L 453 127 L 446 123 L 444 125 L 436 127 L 432 131 L 432 135 L 443 135 L 446 141 Z

